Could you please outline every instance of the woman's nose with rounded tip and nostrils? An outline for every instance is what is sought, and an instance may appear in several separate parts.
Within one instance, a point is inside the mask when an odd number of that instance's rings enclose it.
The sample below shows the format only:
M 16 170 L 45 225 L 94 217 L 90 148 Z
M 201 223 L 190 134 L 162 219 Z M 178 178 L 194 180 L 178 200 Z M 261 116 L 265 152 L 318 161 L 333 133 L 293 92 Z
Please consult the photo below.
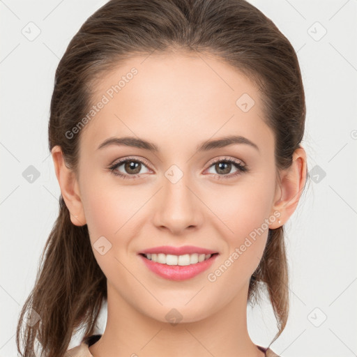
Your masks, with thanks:
M 197 229 L 202 224 L 202 207 L 198 192 L 186 176 L 176 183 L 166 177 L 155 201 L 154 224 L 158 229 L 168 229 L 174 235 L 185 234 L 187 229 Z

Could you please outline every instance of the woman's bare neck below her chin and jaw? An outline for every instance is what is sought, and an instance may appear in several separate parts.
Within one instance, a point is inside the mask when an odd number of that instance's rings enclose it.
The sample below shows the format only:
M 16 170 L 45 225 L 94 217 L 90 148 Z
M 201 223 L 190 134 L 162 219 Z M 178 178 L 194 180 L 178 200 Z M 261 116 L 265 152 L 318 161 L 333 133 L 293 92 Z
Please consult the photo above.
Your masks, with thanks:
M 248 334 L 246 296 L 199 321 L 170 324 L 135 310 L 108 284 L 107 326 L 89 351 L 93 357 L 264 357 Z

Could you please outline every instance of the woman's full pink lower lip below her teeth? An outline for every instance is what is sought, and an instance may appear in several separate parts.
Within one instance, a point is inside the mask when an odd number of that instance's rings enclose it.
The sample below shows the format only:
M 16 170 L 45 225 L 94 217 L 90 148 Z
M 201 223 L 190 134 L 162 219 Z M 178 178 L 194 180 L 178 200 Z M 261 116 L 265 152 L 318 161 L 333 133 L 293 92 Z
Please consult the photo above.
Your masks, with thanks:
M 153 273 L 158 274 L 161 278 L 179 281 L 193 278 L 199 273 L 206 271 L 213 264 L 215 258 L 218 257 L 218 254 L 211 255 L 209 259 L 201 261 L 200 263 L 186 266 L 161 264 L 146 259 L 143 255 L 139 255 L 139 257 Z

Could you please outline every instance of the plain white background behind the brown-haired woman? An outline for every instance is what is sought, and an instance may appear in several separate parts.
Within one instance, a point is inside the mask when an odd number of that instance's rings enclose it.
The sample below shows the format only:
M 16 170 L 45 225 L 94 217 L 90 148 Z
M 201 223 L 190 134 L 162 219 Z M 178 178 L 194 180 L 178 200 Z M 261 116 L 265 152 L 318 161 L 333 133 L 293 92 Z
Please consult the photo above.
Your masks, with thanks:
M 54 72 L 70 39 L 105 2 L 0 1 L 1 357 L 17 356 L 17 317 L 58 214 L 47 149 Z M 298 53 L 307 100 L 303 146 L 316 181 L 286 225 L 291 310 L 271 349 L 284 357 L 357 356 L 357 1 L 250 2 Z M 32 41 L 22 33 L 29 22 L 40 29 Z M 22 176 L 29 165 L 40 172 L 33 183 Z M 104 326 L 105 313 L 98 332 Z M 256 344 L 271 341 L 277 329 L 267 301 L 248 307 L 248 329 Z

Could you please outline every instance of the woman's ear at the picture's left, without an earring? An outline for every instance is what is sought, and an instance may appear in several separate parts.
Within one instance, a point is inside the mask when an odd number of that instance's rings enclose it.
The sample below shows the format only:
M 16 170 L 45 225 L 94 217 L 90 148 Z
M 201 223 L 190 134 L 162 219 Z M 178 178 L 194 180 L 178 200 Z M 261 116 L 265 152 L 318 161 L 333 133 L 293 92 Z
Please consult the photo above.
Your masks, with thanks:
M 70 220 L 73 225 L 76 226 L 86 225 L 86 218 L 84 216 L 83 204 L 75 172 L 66 166 L 61 146 L 54 146 L 51 154 L 62 197 L 68 211 L 70 211 Z

